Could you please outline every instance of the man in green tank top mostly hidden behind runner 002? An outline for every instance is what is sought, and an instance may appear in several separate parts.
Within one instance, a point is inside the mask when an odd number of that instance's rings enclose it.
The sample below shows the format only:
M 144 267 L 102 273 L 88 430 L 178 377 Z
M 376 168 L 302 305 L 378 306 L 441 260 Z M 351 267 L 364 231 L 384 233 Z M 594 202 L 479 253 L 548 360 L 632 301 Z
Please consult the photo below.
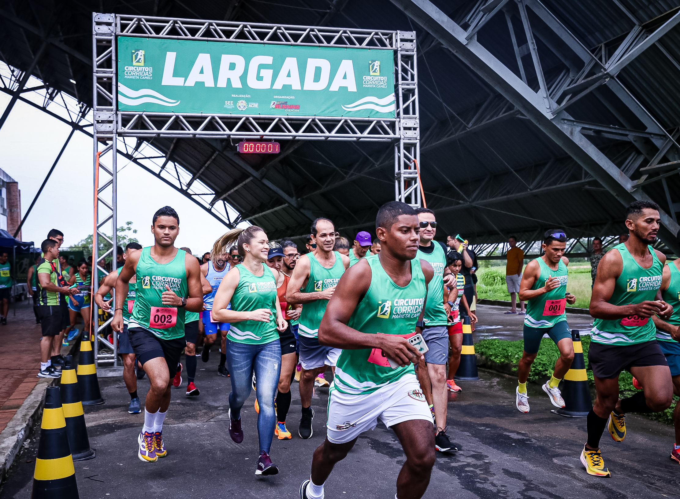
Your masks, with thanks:
M 123 253 L 124 261 L 130 257 L 135 251 L 141 250 L 141 244 L 138 242 L 131 242 L 125 246 L 125 253 Z M 118 267 L 118 272 L 110 272 L 101 282 L 97 293 L 95 293 L 95 303 L 104 312 L 111 312 L 111 300 L 107 300 L 112 289 L 116 287 L 118 281 L 118 274 L 122 270 L 123 265 Z M 139 414 L 141 412 L 141 403 L 139 401 L 139 394 L 137 394 L 137 374 L 135 373 L 135 351 L 130 343 L 130 335 L 128 332 L 128 324 L 130 321 L 131 310 L 135 303 L 135 284 L 137 279 L 133 276 L 128 285 L 128 293 L 123 302 L 123 329 L 118 333 L 118 353 L 123 361 L 123 381 L 125 388 L 130 394 L 130 405 L 128 412 L 131 414 Z

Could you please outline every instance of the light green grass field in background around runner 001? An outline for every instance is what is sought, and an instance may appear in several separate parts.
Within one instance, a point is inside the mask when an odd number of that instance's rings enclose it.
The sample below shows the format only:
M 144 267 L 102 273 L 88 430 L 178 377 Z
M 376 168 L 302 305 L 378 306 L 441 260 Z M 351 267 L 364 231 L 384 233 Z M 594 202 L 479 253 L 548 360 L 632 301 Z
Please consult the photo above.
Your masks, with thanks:
M 572 263 L 568 267 L 569 280 L 566 291 L 576 295 L 575 307 L 588 308 L 590 306 L 590 264 Z M 486 274 L 486 275 L 485 275 Z M 481 267 L 477 270 L 477 297 L 479 299 L 509 300 L 505 284 L 505 267 Z

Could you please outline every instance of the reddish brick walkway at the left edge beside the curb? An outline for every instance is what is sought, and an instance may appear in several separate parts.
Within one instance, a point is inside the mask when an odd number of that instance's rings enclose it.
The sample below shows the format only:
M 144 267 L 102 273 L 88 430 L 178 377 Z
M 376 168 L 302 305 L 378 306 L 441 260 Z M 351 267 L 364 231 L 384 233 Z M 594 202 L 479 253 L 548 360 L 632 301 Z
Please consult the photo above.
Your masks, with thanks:
M 0 432 L 38 382 L 40 338 L 33 301 L 12 303 L 7 325 L 0 326 Z

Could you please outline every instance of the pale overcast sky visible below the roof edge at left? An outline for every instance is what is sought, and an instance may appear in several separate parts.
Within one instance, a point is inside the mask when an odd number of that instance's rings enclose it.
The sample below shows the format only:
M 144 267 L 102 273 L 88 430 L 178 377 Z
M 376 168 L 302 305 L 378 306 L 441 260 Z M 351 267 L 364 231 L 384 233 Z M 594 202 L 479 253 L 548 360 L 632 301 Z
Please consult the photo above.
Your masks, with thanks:
M 10 96 L 0 94 L 0 114 Z M 52 162 L 69 135 L 58 119 L 17 102 L 0 129 L 0 168 L 18 181 L 22 216 L 35 197 Z M 118 168 L 118 225 L 132 221 L 143 246 L 153 242 L 154 212 L 166 204 L 180 215 L 175 246 L 188 246 L 194 255 L 209 251 L 228 230 L 202 208 L 159 179 L 120 158 Z M 64 233 L 70 246 L 92 234 L 92 138 L 76 131 L 22 229 L 24 241 L 39 245 L 50 229 Z

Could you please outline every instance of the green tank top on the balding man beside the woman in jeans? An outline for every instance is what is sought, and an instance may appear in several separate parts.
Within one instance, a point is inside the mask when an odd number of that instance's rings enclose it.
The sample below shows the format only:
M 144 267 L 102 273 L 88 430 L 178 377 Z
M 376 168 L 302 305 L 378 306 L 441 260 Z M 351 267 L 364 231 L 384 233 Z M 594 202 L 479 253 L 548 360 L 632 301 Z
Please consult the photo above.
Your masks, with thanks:
M 307 253 L 309 258 L 309 279 L 302 289 L 303 293 L 324 291 L 324 289 L 337 286 L 338 281 L 345 272 L 345 265 L 342 263 L 340 253 L 337 251 L 333 251 L 333 253 L 335 254 L 335 263 L 333 263 L 333 267 L 330 267 L 330 269 L 322 266 L 312 253 Z M 319 325 L 321 324 L 324 312 L 326 312 L 326 306 L 328 306 L 328 300 L 316 300 L 305 303 L 300 314 L 299 335 L 308 338 L 318 337 Z

